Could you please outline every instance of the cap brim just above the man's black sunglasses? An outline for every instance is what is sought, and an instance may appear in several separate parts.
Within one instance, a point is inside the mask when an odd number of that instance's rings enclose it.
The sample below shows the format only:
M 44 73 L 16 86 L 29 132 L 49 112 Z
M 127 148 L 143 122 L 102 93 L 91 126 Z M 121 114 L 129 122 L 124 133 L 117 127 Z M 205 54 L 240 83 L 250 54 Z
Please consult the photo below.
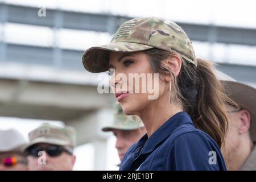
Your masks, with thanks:
M 61 139 L 39 137 L 39 138 L 32 140 L 31 142 L 28 142 L 28 144 L 26 144 L 24 147 L 22 147 L 22 151 L 25 151 L 25 150 L 27 150 L 28 147 L 30 147 L 34 144 L 38 144 L 38 143 L 56 144 L 58 146 L 71 146 L 71 143 L 61 140 Z M 71 146 L 71 147 L 73 147 L 73 146 Z

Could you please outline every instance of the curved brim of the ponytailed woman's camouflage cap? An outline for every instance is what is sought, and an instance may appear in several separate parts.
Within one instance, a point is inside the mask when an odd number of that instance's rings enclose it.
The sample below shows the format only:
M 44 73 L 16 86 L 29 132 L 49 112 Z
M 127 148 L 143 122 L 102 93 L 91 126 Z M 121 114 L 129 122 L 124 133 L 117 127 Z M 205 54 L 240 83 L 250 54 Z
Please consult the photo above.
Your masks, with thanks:
M 115 42 L 103 46 L 92 47 L 82 55 L 84 68 L 92 73 L 108 71 L 109 52 L 136 52 L 153 48 L 144 44 L 132 42 Z

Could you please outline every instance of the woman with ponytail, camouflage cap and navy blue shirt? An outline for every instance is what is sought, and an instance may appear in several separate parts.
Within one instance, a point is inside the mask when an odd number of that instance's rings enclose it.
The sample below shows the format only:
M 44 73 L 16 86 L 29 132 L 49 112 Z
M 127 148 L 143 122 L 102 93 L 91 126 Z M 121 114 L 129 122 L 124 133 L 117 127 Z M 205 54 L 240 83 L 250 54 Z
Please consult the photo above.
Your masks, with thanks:
M 138 115 L 147 130 L 127 150 L 120 170 L 226 170 L 220 147 L 229 98 L 213 65 L 196 58 L 191 40 L 176 23 L 131 19 L 109 44 L 87 49 L 82 64 L 89 72 L 110 72 L 123 113 Z M 157 97 L 150 97 L 148 85 L 154 85 Z

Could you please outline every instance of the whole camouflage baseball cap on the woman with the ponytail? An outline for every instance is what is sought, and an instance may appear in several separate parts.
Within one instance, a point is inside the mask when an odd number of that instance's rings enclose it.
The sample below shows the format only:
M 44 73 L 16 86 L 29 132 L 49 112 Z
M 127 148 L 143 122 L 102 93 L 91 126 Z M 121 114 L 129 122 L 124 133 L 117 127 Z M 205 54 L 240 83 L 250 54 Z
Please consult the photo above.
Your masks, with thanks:
M 196 65 L 192 42 L 176 23 L 162 18 L 134 18 L 121 25 L 110 44 L 92 47 L 82 55 L 87 71 L 98 73 L 108 70 L 109 52 L 135 52 L 159 48 L 179 54 Z

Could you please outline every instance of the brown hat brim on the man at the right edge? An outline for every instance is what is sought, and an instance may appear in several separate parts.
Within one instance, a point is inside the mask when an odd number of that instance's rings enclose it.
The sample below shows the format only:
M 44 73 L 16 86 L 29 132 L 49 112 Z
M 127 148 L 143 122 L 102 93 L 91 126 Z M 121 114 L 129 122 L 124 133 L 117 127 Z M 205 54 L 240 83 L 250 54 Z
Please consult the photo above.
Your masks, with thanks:
M 256 141 L 256 89 L 236 81 L 223 81 L 228 96 L 234 102 L 250 112 L 251 126 L 250 135 L 253 141 Z

